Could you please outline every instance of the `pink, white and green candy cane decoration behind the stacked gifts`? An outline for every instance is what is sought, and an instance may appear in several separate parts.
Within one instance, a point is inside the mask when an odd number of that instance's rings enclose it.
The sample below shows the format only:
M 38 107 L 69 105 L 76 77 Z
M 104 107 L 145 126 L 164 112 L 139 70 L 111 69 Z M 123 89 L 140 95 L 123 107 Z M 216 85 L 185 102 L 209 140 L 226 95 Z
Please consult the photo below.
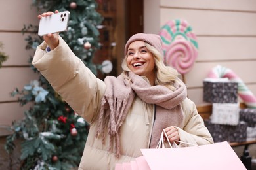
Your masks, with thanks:
M 221 65 L 214 67 L 207 75 L 209 78 L 228 78 L 232 82 L 238 83 L 238 95 L 249 108 L 256 109 L 256 97 L 247 88 L 244 82 L 231 70 Z

